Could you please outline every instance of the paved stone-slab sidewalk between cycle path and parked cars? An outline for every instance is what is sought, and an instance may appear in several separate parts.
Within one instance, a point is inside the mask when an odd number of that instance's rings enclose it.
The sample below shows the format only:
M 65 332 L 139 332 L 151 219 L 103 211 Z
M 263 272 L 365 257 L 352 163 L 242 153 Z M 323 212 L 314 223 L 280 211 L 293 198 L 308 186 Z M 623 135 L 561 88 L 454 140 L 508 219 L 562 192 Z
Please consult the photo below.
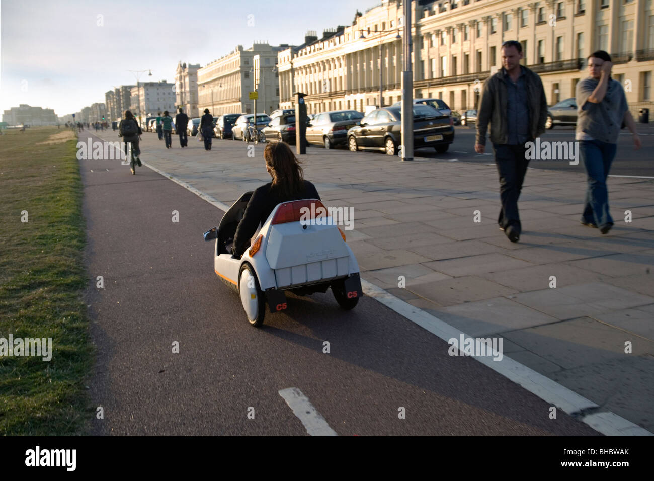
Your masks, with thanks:
M 189 144 L 166 150 L 146 133 L 141 158 L 225 204 L 269 181 L 262 145 L 252 158 L 242 142 Z M 615 226 L 602 236 L 579 224 L 584 175 L 530 169 L 514 244 L 496 224 L 494 165 L 319 147 L 303 160 L 326 205 L 354 207 L 345 233 L 364 279 L 471 336 L 501 336 L 505 355 L 654 431 L 654 181 L 610 178 Z

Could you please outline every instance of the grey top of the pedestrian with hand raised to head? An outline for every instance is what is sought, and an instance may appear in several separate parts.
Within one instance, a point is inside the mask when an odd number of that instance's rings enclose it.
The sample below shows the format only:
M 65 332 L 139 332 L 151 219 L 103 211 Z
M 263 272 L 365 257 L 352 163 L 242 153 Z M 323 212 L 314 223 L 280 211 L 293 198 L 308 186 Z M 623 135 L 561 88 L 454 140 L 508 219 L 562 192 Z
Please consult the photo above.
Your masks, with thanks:
M 617 80 L 609 80 L 606 95 L 600 103 L 588 101 L 599 80 L 592 77 L 577 82 L 577 130 L 576 140 L 588 137 L 606 142 L 617 143 L 622 122 L 627 112 L 625 90 Z

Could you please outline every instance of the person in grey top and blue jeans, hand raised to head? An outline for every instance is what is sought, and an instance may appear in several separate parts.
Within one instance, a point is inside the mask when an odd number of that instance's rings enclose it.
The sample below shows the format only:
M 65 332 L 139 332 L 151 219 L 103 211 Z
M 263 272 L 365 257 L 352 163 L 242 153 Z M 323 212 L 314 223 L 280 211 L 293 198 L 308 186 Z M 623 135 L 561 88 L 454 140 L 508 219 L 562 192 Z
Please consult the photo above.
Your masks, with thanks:
M 611 79 L 611 56 L 604 50 L 593 52 L 588 60 L 589 77 L 577 82 L 577 128 L 579 154 L 586 169 L 586 200 L 581 224 L 606 234 L 613 226 L 606 179 L 617 150 L 617 137 L 623 123 L 632 133 L 634 149 L 640 149 L 634 117 L 627 105 L 625 90 Z

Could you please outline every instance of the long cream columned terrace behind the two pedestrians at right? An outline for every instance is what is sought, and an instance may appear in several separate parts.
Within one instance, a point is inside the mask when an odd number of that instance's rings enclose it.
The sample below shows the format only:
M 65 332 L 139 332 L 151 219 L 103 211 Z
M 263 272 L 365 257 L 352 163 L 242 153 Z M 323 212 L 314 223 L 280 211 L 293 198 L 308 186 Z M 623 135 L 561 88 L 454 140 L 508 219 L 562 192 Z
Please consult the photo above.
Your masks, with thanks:
M 402 1 L 383 0 L 348 27 L 279 52 L 281 107 L 294 91 L 309 113 L 364 111 L 402 96 Z M 523 65 L 538 73 L 551 105 L 574 97 L 587 77 L 585 58 L 611 54 L 632 109 L 649 105 L 654 71 L 653 0 L 452 0 L 412 3 L 413 96 L 475 108 L 481 83 L 501 68 L 502 42 L 523 46 Z M 381 72 L 380 72 L 381 68 Z

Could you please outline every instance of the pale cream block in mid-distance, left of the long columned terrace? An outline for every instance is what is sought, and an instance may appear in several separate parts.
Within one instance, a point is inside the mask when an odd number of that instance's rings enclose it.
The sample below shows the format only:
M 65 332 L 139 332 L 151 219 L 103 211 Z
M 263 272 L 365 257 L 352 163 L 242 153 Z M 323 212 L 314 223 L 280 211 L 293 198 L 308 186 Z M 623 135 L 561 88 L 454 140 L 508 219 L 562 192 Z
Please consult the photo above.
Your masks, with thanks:
M 198 114 L 209 109 L 215 116 L 226 113 L 259 113 L 279 107 L 277 54 L 287 46 L 254 43 L 244 49 L 238 45 L 232 52 L 198 70 Z

